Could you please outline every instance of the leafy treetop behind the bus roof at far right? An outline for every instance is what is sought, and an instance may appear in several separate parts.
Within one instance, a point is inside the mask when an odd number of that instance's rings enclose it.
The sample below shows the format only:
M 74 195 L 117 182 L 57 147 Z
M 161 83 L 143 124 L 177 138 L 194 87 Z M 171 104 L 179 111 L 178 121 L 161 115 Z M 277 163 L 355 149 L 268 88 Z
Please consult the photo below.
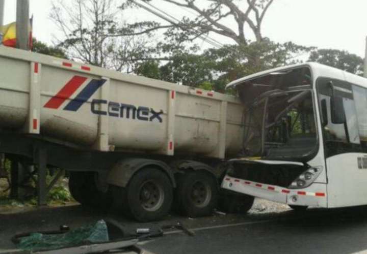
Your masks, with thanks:
M 363 74 L 363 58 L 345 50 L 315 49 L 308 61 L 322 63 L 357 75 Z

